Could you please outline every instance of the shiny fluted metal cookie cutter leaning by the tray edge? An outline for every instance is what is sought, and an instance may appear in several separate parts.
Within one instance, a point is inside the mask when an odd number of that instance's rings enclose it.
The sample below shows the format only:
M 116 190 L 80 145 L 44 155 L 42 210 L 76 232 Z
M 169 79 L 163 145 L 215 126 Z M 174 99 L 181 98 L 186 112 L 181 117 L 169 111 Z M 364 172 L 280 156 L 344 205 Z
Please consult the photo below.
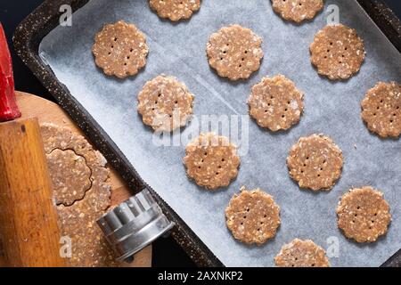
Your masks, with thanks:
M 174 227 L 145 189 L 97 220 L 118 261 L 131 262 L 136 252 Z

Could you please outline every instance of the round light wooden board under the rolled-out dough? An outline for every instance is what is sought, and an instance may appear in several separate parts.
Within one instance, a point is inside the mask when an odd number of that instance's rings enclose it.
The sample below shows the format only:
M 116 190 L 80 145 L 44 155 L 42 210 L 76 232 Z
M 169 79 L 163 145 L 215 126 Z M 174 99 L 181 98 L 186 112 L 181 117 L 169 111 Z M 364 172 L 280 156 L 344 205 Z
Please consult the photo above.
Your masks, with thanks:
M 59 126 L 66 126 L 73 132 L 85 136 L 70 119 L 69 115 L 57 104 L 32 94 L 16 92 L 16 95 L 18 106 L 22 112 L 22 118 L 36 117 L 40 124 L 53 123 Z M 112 205 L 119 205 L 119 203 L 132 196 L 126 183 L 121 180 L 113 169 L 110 169 L 110 183 Z M 1 266 L 4 266 L 4 258 L 1 256 L 0 251 L 0 267 Z M 151 267 L 151 246 L 144 248 L 135 255 L 135 261 L 132 267 Z

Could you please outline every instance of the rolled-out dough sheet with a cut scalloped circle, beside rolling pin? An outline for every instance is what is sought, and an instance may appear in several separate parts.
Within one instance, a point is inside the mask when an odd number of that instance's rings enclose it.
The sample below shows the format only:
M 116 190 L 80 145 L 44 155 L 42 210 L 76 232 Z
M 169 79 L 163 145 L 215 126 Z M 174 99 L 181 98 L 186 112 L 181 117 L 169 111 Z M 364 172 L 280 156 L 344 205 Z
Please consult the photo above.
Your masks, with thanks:
M 55 184 L 61 236 L 70 238 L 72 243 L 72 255 L 67 258 L 67 264 L 73 267 L 120 266 L 96 224 L 110 207 L 110 171 L 106 168 L 106 159 L 99 151 L 94 151 L 85 137 L 73 133 L 70 128 L 42 124 L 41 133 L 49 173 Z M 62 179 L 68 183 L 63 184 L 66 188 L 60 192 L 58 183 L 62 175 L 66 175 Z M 77 181 L 72 182 L 76 175 Z M 82 193 L 77 190 L 86 189 L 86 179 L 80 179 L 86 175 L 90 177 L 90 187 Z

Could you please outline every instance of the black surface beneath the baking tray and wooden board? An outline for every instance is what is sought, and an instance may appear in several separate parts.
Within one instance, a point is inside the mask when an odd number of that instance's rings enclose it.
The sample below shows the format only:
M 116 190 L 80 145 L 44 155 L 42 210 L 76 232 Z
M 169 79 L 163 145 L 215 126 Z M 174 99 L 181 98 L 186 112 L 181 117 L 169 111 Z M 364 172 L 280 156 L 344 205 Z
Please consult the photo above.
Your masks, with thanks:
M 12 34 L 30 12 L 32 12 L 43 0 L 0 0 L 0 21 L 9 40 L 14 67 L 15 89 L 19 91 L 37 94 L 52 100 L 52 96 L 45 90 L 30 70 L 20 61 L 12 49 Z M 347 1 L 347 0 L 344 0 Z M 385 0 L 387 4 L 401 18 L 401 1 Z M 172 238 L 160 239 L 153 243 L 153 266 L 193 266 L 192 260 L 186 256 Z

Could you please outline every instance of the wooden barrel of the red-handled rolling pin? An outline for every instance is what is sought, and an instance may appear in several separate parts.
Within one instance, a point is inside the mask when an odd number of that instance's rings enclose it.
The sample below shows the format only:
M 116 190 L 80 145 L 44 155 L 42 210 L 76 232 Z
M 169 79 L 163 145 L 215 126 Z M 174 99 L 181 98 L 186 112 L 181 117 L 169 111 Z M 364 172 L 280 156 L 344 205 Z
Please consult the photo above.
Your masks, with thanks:
M 0 240 L 7 266 L 65 266 L 37 118 L 0 124 Z

